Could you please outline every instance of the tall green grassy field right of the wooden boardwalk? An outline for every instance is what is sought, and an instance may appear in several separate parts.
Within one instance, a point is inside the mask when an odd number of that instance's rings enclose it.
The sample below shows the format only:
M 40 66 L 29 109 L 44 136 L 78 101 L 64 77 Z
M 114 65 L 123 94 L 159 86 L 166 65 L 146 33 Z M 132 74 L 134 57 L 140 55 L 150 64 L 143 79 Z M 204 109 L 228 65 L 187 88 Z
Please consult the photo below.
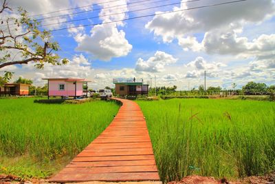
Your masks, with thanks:
M 213 99 L 137 101 L 162 181 L 189 174 L 261 175 L 275 170 L 275 103 Z

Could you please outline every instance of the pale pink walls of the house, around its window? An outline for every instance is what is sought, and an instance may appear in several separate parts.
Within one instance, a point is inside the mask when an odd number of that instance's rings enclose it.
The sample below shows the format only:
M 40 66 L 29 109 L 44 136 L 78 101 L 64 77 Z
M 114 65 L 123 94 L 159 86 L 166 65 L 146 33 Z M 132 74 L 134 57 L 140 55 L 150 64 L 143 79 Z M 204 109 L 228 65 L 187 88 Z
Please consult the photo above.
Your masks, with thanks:
M 59 90 L 59 84 L 64 84 L 65 89 Z M 76 83 L 76 96 L 83 95 L 83 82 Z M 74 82 L 49 81 L 49 96 L 75 96 Z

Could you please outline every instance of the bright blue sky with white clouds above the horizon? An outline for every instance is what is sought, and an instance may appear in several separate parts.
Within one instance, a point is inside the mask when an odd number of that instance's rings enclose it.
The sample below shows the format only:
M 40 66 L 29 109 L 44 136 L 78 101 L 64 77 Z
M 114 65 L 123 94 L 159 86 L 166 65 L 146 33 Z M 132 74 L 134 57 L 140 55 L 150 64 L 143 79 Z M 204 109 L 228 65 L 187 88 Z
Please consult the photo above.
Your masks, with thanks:
M 48 30 L 72 28 L 52 33 L 61 51 L 58 54 L 69 59 L 66 66 L 45 65 L 37 70 L 34 64 L 10 66 L 14 78 L 23 76 L 44 85 L 45 77 L 80 77 L 91 80 L 91 88 L 113 86 L 112 78 L 157 77 L 157 85 L 177 85 L 180 90 L 203 84 L 203 72 L 207 72 L 207 85 L 231 88 L 248 81 L 275 84 L 275 3 L 273 0 L 247 0 L 211 8 L 155 15 L 131 21 L 82 27 L 91 23 L 106 23 L 159 12 L 184 10 L 231 0 L 186 1 L 137 0 L 120 1 L 69 1 L 69 0 L 11 0 L 12 7 L 21 6 L 30 14 L 46 14 L 36 18 L 87 11 L 83 14 L 45 19 Z M 103 3 L 102 2 L 106 2 Z M 108 3 L 109 2 L 109 3 Z M 126 6 L 126 3 L 130 3 Z M 135 7 L 133 7 L 133 4 Z M 131 12 L 162 4 L 175 6 Z M 91 6 L 88 6 L 91 5 Z M 124 5 L 124 6 L 120 6 Z M 120 6 L 109 8 L 112 6 Z M 101 10 L 95 10 L 101 8 Z M 102 15 L 108 15 L 104 16 Z M 85 21 L 60 23 L 96 17 Z M 4 69 L 2 69 L 4 70 Z

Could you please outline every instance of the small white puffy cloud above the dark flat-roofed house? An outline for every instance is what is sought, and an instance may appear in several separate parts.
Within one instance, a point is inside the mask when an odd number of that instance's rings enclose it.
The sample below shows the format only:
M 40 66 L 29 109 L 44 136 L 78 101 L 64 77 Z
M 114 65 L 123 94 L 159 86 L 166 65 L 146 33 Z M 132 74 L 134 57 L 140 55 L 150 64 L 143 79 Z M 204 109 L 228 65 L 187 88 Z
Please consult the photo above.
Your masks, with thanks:
M 172 55 L 157 50 L 155 55 L 147 61 L 144 61 L 142 58 L 137 59 L 135 70 L 142 72 L 163 72 L 166 65 L 175 62 L 177 62 L 177 59 Z

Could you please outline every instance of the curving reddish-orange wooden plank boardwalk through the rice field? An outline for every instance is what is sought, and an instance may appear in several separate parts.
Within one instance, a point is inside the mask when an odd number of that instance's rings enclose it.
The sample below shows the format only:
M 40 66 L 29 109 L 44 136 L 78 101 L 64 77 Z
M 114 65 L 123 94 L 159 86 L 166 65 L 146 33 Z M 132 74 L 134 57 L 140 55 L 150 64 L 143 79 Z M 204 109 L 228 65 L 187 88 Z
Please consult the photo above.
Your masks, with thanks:
M 116 100 L 122 106 L 109 127 L 49 182 L 159 181 L 140 107 L 133 101 Z

